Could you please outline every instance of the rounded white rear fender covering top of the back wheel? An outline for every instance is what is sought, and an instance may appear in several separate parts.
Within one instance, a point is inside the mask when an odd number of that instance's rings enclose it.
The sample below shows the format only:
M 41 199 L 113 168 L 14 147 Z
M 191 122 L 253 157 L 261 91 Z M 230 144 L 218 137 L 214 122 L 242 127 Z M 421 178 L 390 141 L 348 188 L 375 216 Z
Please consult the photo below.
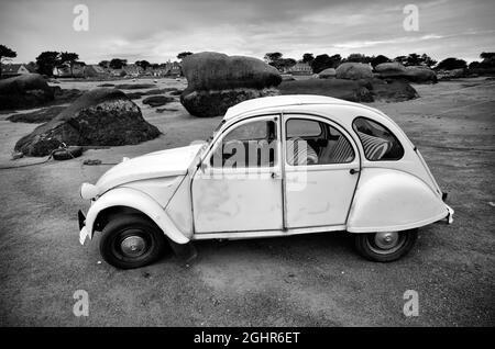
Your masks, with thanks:
M 440 221 L 450 209 L 419 178 L 398 170 L 364 168 L 348 218 L 348 232 L 397 232 Z

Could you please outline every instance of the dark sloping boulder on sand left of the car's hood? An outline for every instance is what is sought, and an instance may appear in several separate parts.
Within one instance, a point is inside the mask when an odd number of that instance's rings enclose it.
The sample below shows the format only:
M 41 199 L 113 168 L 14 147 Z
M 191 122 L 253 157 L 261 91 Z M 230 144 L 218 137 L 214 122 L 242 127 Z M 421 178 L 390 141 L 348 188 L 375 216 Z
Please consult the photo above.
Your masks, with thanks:
M 86 92 L 55 119 L 15 144 L 28 156 L 45 156 L 62 143 L 80 146 L 120 146 L 153 139 L 160 131 L 142 116 L 122 91 Z

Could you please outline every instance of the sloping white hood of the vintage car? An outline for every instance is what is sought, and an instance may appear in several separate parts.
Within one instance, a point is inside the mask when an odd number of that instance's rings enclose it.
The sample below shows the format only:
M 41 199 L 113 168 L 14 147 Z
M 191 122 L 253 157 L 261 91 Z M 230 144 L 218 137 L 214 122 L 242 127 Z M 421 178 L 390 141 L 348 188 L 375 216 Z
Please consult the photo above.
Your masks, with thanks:
M 96 185 L 100 194 L 114 187 L 144 179 L 184 176 L 201 145 L 161 150 L 124 159 L 100 177 Z

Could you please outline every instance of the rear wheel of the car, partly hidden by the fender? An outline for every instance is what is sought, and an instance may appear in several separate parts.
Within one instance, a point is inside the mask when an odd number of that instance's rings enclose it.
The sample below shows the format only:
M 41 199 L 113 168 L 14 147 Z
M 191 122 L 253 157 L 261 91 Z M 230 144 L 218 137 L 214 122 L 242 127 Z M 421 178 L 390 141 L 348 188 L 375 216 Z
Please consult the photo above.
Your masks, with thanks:
M 355 248 L 373 261 L 389 262 L 405 256 L 418 239 L 418 229 L 356 234 Z

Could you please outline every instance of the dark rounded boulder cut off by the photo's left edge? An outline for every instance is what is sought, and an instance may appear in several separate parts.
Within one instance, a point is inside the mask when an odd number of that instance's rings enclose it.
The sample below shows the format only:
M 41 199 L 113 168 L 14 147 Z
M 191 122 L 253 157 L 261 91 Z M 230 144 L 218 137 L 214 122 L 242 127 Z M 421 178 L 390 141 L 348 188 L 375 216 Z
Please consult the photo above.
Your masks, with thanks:
M 38 74 L 0 80 L 0 110 L 40 106 L 53 99 L 53 89 Z

